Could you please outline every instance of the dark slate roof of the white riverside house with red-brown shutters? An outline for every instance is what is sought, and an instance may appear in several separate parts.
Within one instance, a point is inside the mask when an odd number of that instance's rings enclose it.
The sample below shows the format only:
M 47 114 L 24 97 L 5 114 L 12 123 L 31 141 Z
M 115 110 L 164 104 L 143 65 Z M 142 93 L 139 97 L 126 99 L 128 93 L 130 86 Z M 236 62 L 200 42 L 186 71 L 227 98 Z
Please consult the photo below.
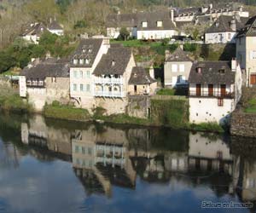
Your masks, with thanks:
M 201 67 L 201 73 L 196 69 Z M 219 70 L 224 69 L 224 73 Z M 189 73 L 189 83 L 232 84 L 236 72 L 232 72 L 230 61 L 195 61 Z

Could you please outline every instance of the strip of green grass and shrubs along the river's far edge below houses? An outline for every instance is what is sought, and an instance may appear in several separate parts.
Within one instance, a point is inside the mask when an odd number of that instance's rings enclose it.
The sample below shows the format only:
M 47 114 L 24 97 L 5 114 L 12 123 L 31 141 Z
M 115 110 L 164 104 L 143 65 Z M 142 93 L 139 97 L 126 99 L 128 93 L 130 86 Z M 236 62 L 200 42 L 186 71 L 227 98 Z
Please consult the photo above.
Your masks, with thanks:
M 175 104 L 172 103 L 170 106 L 163 105 L 163 107 L 160 107 L 160 103 L 155 101 L 154 110 L 157 113 L 154 116 L 151 118 L 136 118 L 127 114 L 105 115 L 105 110 L 101 107 L 97 107 L 93 114 L 90 114 L 86 109 L 76 108 L 72 105 L 61 105 L 58 101 L 54 101 L 53 104 L 46 105 L 44 111 L 40 113 L 46 118 L 80 122 L 96 121 L 100 123 L 136 124 L 140 126 L 164 126 L 174 130 L 224 132 L 224 129 L 215 123 L 189 124 L 186 119 L 188 112 L 185 110 L 185 107 L 182 107 L 183 101 L 176 101 Z M 32 106 L 17 94 L 0 95 L 0 108 L 7 112 L 39 113 L 35 112 Z M 163 110 L 165 108 L 166 110 Z

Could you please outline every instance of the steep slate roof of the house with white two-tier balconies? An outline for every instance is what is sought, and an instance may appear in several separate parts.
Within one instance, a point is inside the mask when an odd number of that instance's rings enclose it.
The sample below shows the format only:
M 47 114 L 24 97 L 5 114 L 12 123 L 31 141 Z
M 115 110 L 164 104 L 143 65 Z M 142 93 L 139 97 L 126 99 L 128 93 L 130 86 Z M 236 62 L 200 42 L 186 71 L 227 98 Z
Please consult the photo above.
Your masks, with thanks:
M 96 66 L 95 75 L 122 75 L 131 60 L 131 49 L 111 46 Z

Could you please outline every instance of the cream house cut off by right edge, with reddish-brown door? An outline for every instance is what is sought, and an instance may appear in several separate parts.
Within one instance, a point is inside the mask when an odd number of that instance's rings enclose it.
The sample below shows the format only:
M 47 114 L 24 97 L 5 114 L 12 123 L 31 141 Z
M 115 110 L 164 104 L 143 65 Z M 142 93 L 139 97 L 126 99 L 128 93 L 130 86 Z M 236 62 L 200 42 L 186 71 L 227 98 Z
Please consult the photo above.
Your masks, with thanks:
M 245 70 L 247 86 L 256 85 L 256 16 L 247 20 L 236 35 L 236 58 Z

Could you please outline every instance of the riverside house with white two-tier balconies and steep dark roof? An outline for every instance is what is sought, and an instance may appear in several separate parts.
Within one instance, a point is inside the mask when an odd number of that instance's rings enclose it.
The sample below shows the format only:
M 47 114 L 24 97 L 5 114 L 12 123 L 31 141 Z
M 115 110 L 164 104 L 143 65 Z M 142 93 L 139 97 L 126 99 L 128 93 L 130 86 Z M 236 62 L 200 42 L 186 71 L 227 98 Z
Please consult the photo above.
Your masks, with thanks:
M 93 72 L 96 107 L 107 109 L 108 114 L 125 113 L 128 83 L 134 66 L 131 49 L 111 45 Z

